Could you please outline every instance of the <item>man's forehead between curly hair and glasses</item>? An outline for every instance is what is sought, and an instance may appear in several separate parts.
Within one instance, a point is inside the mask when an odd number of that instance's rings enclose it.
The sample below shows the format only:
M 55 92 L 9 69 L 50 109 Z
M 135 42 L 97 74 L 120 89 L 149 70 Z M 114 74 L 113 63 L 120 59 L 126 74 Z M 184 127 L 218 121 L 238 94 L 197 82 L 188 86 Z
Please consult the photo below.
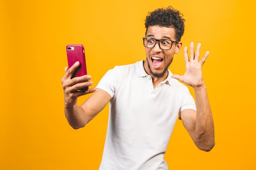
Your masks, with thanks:
M 173 28 L 164 26 L 148 26 L 146 37 L 153 37 L 156 39 L 169 38 L 170 40 L 175 39 L 175 31 Z

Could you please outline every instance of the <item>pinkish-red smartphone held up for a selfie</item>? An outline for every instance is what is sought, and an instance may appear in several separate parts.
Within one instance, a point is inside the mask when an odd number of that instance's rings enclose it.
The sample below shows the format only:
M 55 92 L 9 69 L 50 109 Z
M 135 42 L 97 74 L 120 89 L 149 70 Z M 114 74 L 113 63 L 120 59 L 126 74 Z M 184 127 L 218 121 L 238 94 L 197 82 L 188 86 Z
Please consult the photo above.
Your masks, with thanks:
M 79 67 L 76 69 L 76 71 L 74 71 L 71 78 L 87 75 L 84 46 L 81 44 L 69 44 L 66 46 L 66 50 L 68 68 L 70 68 L 77 61 L 80 63 Z M 88 87 L 80 90 L 88 91 Z

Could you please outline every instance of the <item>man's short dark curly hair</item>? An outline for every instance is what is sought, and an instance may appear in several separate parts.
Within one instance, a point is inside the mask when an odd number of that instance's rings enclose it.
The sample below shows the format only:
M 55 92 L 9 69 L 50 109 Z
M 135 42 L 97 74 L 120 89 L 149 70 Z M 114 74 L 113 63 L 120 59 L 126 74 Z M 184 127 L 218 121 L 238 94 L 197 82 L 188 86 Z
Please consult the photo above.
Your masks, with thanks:
M 153 12 L 149 12 L 146 16 L 145 27 L 146 34 L 149 26 L 164 26 L 168 28 L 173 28 L 175 30 L 175 39 L 180 41 L 182 35 L 184 34 L 184 22 L 185 19 L 182 18 L 183 14 L 173 7 L 169 6 L 166 9 L 159 8 Z

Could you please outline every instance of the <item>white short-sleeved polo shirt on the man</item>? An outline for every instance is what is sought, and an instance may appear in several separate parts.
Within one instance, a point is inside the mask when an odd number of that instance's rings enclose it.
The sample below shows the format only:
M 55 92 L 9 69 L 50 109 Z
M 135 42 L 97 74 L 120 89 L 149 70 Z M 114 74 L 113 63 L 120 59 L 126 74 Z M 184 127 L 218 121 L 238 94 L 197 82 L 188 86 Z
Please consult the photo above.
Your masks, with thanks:
M 168 170 L 164 154 L 177 115 L 196 110 L 189 89 L 171 75 L 154 89 L 141 60 L 103 76 L 97 88 L 112 99 L 99 170 Z

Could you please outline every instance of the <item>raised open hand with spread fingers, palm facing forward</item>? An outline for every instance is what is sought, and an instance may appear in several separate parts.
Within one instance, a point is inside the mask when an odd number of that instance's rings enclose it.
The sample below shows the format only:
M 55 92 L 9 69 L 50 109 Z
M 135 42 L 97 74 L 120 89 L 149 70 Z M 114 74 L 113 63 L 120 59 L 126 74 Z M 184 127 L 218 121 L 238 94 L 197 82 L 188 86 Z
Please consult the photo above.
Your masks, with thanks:
M 190 43 L 190 60 L 188 55 L 188 49 L 184 47 L 184 60 L 186 64 L 186 71 L 184 75 L 172 75 L 172 78 L 178 79 L 181 82 L 192 86 L 193 88 L 200 87 L 204 84 L 202 76 L 202 65 L 209 55 L 209 51 L 204 54 L 202 60 L 199 61 L 201 44 L 198 43 L 196 51 L 194 51 L 194 43 Z

